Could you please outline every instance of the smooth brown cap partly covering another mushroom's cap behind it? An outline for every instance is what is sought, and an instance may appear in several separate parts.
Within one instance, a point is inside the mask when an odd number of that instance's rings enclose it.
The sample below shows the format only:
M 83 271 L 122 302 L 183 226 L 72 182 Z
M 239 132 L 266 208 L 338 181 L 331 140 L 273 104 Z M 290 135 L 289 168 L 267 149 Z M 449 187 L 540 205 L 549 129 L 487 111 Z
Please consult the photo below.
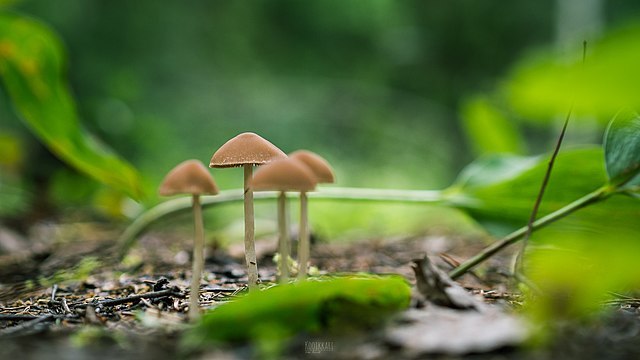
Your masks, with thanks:
M 303 162 L 284 159 L 260 167 L 249 186 L 254 190 L 312 191 L 317 183 L 313 171 Z

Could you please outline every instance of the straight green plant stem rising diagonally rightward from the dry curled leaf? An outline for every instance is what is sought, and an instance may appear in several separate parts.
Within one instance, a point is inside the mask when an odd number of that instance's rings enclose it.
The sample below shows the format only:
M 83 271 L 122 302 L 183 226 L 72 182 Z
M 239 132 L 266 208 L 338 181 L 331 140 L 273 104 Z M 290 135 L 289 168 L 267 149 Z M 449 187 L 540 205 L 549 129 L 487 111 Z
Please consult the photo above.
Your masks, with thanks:
M 565 207 L 558 209 L 552 212 L 551 214 L 548 214 L 538 219 L 533 224 L 531 224 L 531 228 L 532 230 L 537 230 L 539 228 L 542 228 L 557 220 L 562 219 L 563 217 L 573 213 L 576 210 L 582 209 L 587 205 L 590 205 L 599 201 L 603 201 L 607 199 L 609 196 L 611 196 L 612 194 L 613 194 L 613 191 L 609 186 L 603 186 L 579 198 L 578 200 L 575 200 L 574 202 L 566 205 Z M 463 262 L 457 268 L 453 269 L 449 273 L 449 276 L 452 279 L 457 279 L 460 276 L 464 275 L 467 271 L 473 269 L 476 265 L 487 260 L 494 254 L 496 254 L 498 251 L 520 240 L 527 233 L 528 228 L 529 228 L 528 226 L 521 227 L 520 229 L 512 232 L 511 234 L 489 245 L 484 250 L 482 250 L 475 256 L 471 257 L 467 261 Z

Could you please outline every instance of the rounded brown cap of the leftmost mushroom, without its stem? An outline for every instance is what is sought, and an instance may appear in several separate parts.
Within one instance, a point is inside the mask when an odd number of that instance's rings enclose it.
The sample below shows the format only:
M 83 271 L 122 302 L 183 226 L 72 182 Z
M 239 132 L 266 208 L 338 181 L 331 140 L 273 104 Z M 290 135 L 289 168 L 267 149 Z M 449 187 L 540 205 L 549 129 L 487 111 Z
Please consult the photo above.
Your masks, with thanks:
M 215 195 L 218 187 L 209 170 L 198 160 L 186 160 L 174 167 L 162 180 L 159 194 Z

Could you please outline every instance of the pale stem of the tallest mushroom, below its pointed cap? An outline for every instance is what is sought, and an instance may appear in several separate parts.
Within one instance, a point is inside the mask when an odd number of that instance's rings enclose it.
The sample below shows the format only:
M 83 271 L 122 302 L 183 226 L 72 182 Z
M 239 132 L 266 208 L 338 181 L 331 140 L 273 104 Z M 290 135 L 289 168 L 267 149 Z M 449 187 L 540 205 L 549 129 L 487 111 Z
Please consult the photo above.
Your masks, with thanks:
M 253 165 L 244 165 L 244 253 L 247 261 L 249 290 L 258 288 L 258 260 L 254 240 L 253 190 L 249 187 L 253 176 Z

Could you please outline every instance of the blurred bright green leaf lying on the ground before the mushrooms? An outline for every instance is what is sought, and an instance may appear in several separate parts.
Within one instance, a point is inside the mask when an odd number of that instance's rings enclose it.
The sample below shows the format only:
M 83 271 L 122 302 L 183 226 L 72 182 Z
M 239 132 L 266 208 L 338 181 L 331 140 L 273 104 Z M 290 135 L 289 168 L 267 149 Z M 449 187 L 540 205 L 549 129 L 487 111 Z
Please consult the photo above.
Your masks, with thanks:
M 344 332 L 378 325 L 409 305 L 410 287 L 399 276 L 310 280 L 253 292 L 205 314 L 183 344 L 284 341 L 298 333 Z M 276 339 L 273 335 L 277 334 Z

